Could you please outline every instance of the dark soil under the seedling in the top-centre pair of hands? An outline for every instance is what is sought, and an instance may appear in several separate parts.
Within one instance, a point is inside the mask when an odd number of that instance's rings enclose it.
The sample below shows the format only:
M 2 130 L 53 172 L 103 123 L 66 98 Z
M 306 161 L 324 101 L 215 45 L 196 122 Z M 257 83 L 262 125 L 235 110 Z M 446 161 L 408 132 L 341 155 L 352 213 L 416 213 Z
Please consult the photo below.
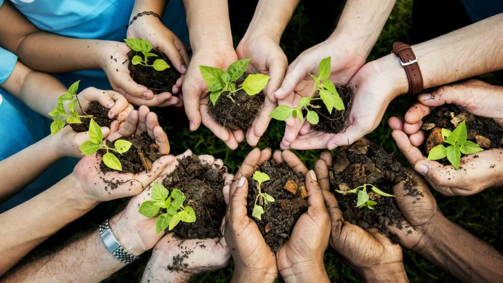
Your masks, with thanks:
M 247 73 L 235 82 L 236 88 L 241 87 L 246 77 Z M 215 121 L 232 131 L 246 131 L 264 104 L 265 95 L 260 92 L 249 96 L 244 90 L 240 90 L 232 95 L 233 102 L 228 94 L 229 92 L 222 92 L 215 105 L 210 101 L 208 113 Z

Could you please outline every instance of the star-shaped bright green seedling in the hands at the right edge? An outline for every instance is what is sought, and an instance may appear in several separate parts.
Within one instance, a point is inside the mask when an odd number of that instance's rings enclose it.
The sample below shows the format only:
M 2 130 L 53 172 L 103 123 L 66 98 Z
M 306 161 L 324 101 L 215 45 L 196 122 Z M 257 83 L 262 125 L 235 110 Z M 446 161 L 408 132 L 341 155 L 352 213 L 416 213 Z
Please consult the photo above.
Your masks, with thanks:
M 448 129 L 442 129 L 444 142 L 449 144 L 447 148 L 444 145 L 438 145 L 430 150 L 428 160 L 439 160 L 447 157 L 449 162 L 459 169 L 461 154 L 468 155 L 483 151 L 475 143 L 466 140 L 467 131 L 465 121 L 461 122 L 452 132 Z

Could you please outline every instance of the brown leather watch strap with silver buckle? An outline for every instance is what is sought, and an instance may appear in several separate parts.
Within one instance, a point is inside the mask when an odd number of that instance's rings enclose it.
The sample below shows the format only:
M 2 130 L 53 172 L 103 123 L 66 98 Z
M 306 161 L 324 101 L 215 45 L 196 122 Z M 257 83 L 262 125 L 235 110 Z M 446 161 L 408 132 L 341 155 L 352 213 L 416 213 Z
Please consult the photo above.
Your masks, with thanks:
M 417 63 L 417 57 L 410 45 L 395 42 L 393 43 L 393 53 L 400 58 L 400 64 L 405 68 L 409 82 L 408 94 L 418 94 L 423 90 L 423 75 Z

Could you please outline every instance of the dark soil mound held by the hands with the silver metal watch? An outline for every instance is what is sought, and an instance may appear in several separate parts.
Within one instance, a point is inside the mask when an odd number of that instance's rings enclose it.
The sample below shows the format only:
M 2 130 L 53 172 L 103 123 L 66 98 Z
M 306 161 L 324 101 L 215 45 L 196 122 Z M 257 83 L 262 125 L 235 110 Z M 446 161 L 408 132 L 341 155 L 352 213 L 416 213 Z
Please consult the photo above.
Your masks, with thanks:
M 172 191 L 178 188 L 185 194 L 184 206 L 196 213 L 193 223 L 180 222 L 173 231 L 180 239 L 206 239 L 220 237 L 220 227 L 225 216 L 223 171 L 202 166 L 193 155 L 184 157 L 170 175 L 164 179 L 164 187 Z M 166 231 L 167 232 L 167 231 Z

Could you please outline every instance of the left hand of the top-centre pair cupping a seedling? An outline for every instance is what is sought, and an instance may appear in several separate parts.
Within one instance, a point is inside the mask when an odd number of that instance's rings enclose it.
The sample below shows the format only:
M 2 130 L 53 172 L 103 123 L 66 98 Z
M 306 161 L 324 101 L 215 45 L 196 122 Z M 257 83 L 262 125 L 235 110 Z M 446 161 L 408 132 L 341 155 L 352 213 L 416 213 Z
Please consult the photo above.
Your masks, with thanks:
M 216 122 L 208 113 L 209 93 L 207 90 L 209 86 L 201 75 L 199 65 L 226 70 L 235 61 L 237 61 L 237 54 L 232 46 L 200 49 L 191 59 L 182 86 L 185 112 L 190 120 L 189 129 L 192 131 L 198 129 L 202 122 L 231 150 L 237 149 L 237 144 L 244 139 L 244 133 L 242 130 L 230 131 Z

